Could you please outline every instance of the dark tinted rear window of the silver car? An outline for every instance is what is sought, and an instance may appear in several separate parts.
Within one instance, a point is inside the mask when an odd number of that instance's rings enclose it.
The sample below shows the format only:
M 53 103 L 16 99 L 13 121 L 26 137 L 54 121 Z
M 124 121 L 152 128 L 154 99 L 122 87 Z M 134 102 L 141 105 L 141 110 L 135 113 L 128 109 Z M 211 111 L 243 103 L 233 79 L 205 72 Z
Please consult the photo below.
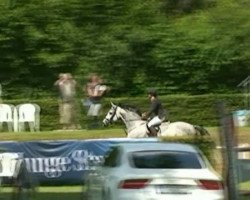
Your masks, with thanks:
M 201 169 L 198 154 L 179 151 L 137 151 L 132 166 L 143 169 Z

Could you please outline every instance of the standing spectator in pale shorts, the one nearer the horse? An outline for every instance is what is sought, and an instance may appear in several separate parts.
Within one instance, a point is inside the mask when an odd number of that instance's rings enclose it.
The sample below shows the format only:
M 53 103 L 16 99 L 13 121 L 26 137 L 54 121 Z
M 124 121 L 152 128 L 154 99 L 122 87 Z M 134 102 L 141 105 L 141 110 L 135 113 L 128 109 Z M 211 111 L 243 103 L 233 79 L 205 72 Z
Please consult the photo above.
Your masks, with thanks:
M 102 107 L 101 100 L 107 91 L 107 87 L 103 85 L 102 79 L 97 74 L 91 74 L 84 90 L 87 94 L 87 116 L 90 117 L 91 121 L 89 128 L 95 128 L 98 127 L 98 117 Z

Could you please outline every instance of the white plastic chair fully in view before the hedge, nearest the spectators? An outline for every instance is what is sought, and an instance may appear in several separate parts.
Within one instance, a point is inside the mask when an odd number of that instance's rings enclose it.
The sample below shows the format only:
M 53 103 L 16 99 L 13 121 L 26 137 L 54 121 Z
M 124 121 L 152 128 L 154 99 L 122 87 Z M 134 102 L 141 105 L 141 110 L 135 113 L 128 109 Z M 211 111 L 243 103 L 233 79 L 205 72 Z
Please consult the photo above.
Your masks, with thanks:
M 40 106 L 32 103 L 25 103 L 16 106 L 18 118 L 18 131 L 25 130 L 25 123 L 29 124 L 30 131 L 40 130 Z

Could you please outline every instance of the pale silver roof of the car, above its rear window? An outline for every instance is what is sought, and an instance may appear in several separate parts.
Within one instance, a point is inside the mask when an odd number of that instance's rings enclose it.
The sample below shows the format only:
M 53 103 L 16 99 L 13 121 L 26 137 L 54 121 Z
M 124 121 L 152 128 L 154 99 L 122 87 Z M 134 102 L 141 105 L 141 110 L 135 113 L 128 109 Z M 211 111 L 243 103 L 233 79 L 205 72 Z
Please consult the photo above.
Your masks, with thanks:
M 119 146 L 125 152 L 132 151 L 150 151 L 150 150 L 166 150 L 166 151 L 183 151 L 197 153 L 197 149 L 191 144 L 169 143 L 169 142 L 131 142 L 120 143 Z

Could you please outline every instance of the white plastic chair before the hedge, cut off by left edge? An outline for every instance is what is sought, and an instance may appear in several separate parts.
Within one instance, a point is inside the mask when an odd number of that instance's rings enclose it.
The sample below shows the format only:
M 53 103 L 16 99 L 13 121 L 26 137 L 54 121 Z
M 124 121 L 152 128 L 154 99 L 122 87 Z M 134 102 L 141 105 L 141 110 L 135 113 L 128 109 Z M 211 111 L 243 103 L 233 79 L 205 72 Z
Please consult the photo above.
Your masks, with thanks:
M 15 107 L 9 104 L 0 104 L 0 130 L 3 129 L 3 123 L 8 126 L 8 131 L 14 129 L 14 110 Z

